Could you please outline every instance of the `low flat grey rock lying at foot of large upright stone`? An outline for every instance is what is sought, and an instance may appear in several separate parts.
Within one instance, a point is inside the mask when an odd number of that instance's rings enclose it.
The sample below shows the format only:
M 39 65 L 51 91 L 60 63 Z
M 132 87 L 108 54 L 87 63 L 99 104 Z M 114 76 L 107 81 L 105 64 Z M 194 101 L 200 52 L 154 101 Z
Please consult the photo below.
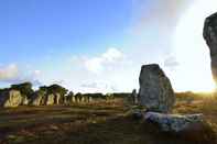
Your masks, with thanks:
M 144 113 L 148 122 L 156 124 L 163 132 L 184 132 L 191 131 L 194 125 L 203 125 L 203 114 L 164 114 L 158 112 Z

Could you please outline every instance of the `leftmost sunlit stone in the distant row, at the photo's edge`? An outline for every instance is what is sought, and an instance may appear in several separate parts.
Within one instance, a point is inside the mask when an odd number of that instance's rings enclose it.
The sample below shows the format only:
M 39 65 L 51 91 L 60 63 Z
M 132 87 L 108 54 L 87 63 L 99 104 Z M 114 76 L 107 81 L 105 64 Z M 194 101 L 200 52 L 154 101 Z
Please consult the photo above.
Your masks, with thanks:
M 4 90 L 0 93 L 0 106 L 4 108 L 15 108 L 23 103 L 24 98 L 18 90 Z

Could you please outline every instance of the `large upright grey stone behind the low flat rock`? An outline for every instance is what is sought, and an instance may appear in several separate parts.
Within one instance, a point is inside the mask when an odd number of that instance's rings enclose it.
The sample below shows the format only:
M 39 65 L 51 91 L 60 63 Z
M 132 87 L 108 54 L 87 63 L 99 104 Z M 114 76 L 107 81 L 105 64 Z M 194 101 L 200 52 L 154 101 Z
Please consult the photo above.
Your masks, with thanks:
M 143 65 L 140 73 L 139 103 L 148 111 L 169 113 L 175 102 L 170 79 L 158 64 Z

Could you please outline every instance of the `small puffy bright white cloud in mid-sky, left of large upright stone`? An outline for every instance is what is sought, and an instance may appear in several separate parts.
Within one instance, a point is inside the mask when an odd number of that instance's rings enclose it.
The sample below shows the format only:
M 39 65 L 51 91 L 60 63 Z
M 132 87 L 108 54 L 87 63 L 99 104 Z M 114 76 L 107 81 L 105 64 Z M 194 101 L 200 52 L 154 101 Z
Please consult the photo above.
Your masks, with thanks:
M 123 53 L 118 48 L 110 47 L 97 57 L 86 58 L 85 67 L 91 73 L 99 74 L 107 68 L 112 68 L 113 65 L 120 63 L 122 59 Z

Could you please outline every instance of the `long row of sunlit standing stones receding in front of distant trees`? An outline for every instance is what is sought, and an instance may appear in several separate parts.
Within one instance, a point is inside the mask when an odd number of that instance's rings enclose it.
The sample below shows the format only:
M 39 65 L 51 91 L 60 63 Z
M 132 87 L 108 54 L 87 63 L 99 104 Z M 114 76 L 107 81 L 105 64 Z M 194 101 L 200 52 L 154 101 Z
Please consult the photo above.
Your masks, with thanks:
M 21 84 L 22 85 L 22 84 Z M 0 91 L 0 107 L 17 108 L 19 106 L 72 106 L 72 104 L 87 104 L 101 101 L 113 100 L 111 93 L 72 93 L 61 95 L 59 92 L 48 92 L 37 90 L 31 96 L 21 93 L 20 90 L 6 89 Z

